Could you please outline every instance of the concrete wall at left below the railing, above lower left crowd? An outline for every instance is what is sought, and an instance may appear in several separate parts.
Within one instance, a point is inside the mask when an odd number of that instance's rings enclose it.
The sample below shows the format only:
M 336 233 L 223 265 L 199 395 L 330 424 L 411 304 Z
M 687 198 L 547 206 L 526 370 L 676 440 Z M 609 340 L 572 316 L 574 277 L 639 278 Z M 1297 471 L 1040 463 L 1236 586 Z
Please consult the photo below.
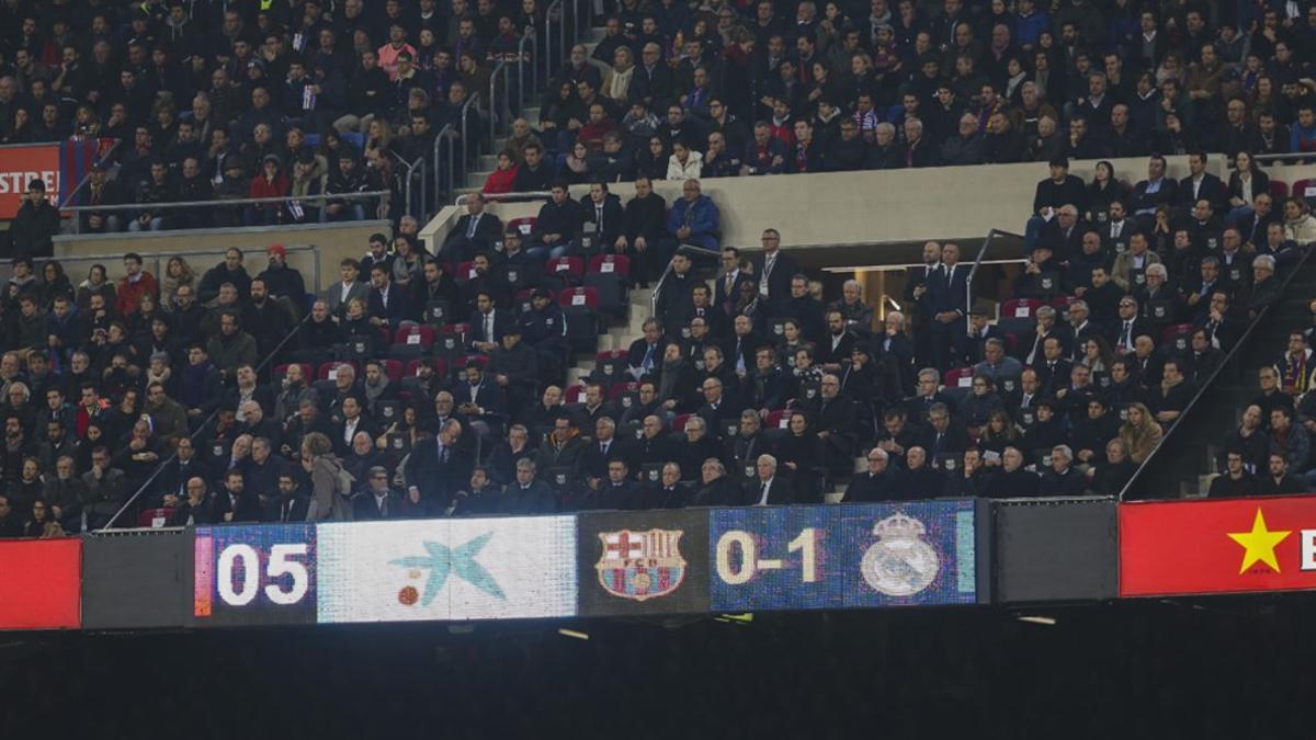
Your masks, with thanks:
M 249 226 L 238 229 L 196 229 L 188 232 L 147 232 L 117 234 L 62 234 L 55 237 L 55 258 L 121 255 L 129 251 L 153 254 L 157 251 L 208 251 L 241 248 L 249 251 L 247 271 L 251 275 L 265 269 L 265 250 L 271 244 L 284 246 L 315 245 L 320 249 L 320 275 L 309 253 L 293 251 L 288 263 L 301 271 L 307 290 L 318 292 L 337 279 L 338 261 L 343 257 L 361 257 L 366 253 L 370 234 L 383 232 L 392 234 L 388 221 L 353 221 L 346 224 L 308 224 L 303 226 Z M 209 270 L 222 258 L 205 255 L 191 261 L 200 271 Z M 121 265 L 107 265 L 114 278 L 122 274 Z M 86 274 L 70 275 L 80 282 Z M 318 284 L 318 288 L 316 287 Z

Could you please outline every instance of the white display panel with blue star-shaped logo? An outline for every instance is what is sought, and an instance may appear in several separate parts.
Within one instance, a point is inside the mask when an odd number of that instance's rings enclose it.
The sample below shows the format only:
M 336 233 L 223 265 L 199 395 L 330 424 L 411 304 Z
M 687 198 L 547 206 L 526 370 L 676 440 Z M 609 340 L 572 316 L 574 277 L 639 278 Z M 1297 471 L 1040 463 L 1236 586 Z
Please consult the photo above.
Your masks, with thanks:
M 571 616 L 571 516 L 321 524 L 318 621 Z

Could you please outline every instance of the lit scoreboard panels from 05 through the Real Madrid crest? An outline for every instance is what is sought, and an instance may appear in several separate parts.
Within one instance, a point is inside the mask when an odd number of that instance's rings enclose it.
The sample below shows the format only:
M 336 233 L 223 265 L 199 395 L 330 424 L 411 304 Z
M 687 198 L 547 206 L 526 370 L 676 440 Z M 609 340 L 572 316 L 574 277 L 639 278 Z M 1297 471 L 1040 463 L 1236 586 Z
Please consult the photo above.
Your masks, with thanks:
M 986 502 L 199 527 L 191 625 L 971 604 Z

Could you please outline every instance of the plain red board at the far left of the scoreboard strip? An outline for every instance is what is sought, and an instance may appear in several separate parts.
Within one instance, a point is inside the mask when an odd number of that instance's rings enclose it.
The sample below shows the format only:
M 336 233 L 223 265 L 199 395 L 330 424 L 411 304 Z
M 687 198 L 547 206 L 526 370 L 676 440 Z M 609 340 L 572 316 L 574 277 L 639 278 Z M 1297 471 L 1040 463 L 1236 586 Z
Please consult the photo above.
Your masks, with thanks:
M 0 629 L 76 629 L 82 540 L 0 541 Z

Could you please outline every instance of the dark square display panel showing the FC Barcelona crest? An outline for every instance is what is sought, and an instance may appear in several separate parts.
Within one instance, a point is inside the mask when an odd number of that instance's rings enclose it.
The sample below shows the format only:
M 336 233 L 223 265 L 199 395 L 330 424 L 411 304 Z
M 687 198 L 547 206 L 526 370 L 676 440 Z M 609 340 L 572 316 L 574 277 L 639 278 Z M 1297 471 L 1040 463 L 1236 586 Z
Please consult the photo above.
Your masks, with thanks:
M 708 512 L 619 511 L 576 519 L 580 616 L 708 611 Z

